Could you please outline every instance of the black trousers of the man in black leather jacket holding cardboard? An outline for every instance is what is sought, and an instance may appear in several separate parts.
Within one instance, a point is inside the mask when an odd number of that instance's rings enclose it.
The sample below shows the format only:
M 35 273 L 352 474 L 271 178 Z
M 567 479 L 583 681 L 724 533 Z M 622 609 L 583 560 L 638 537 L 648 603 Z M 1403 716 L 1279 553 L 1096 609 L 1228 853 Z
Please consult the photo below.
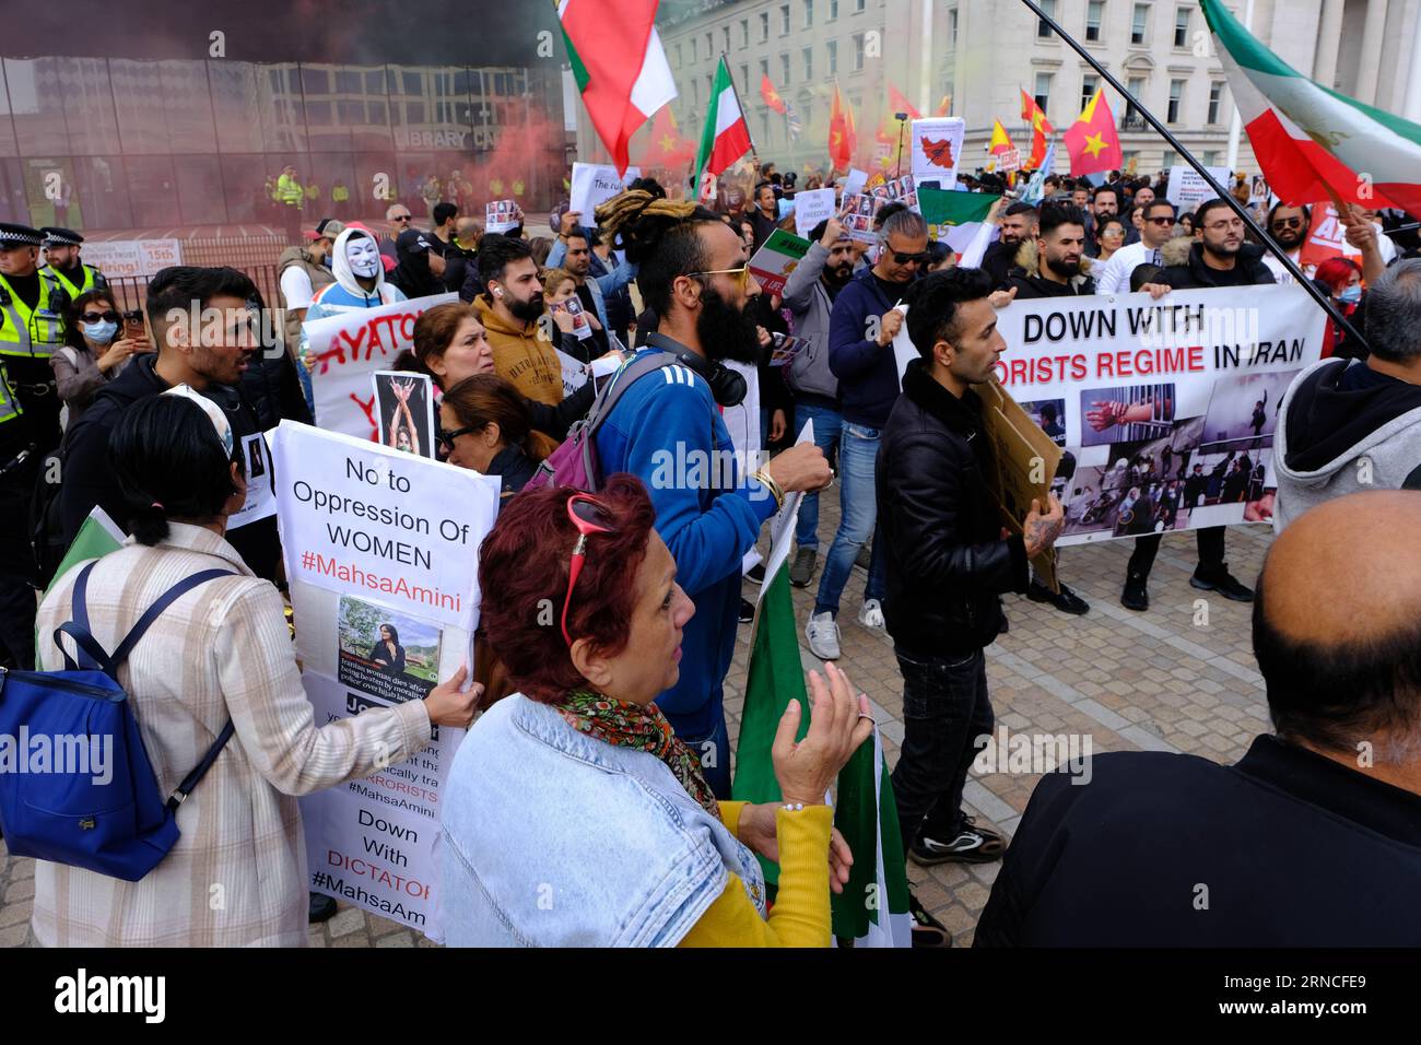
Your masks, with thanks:
M 925 657 L 894 648 L 902 671 L 902 748 L 892 772 L 898 827 L 907 850 L 919 833 L 951 840 L 962 827 L 962 786 L 978 736 L 995 717 L 986 655 Z

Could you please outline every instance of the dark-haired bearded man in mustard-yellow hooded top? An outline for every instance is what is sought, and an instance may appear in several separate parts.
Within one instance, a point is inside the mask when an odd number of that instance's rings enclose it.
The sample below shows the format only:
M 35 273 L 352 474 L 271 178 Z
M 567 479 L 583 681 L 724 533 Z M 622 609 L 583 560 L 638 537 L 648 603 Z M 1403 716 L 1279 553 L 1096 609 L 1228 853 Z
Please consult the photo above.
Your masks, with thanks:
M 540 327 L 543 283 L 527 242 L 492 233 L 479 245 L 483 294 L 473 311 L 489 333 L 493 370 L 530 400 L 556 407 L 563 401 L 563 365 Z

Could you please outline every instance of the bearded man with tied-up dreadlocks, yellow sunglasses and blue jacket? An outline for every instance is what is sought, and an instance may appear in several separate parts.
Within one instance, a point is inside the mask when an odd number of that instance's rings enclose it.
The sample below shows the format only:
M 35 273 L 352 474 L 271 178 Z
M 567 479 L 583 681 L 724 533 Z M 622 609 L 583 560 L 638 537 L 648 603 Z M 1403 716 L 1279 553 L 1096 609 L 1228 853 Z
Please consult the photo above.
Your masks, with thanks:
M 809 444 L 759 469 L 736 458 L 720 411 L 743 411 L 745 387 L 723 364 L 753 365 L 760 355 L 750 309 L 760 286 L 736 230 L 703 206 L 635 189 L 597 216 L 639 264 L 637 286 L 658 317 L 630 367 L 661 354 L 666 364 L 621 390 L 594 436 L 597 459 L 601 475 L 630 472 L 647 485 L 676 582 L 695 601 L 679 681 L 657 707 L 701 759 L 712 791 L 728 798 L 722 687 L 735 654 L 740 563 L 787 493 L 828 485 L 828 462 Z

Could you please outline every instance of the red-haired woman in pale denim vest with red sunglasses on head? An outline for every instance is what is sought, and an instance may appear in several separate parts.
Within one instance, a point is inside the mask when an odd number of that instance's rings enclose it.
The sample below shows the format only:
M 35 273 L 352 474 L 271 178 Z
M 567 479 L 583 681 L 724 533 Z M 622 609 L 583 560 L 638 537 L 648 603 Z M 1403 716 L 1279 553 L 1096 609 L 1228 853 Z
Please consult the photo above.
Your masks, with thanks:
M 526 491 L 483 542 L 483 627 L 520 692 L 459 748 L 442 803 L 453 945 L 830 944 L 828 894 L 851 856 L 824 793 L 868 738 L 868 698 L 828 665 L 813 715 L 773 745 L 783 805 L 718 802 L 652 702 L 679 675 L 695 607 L 647 489 Z M 753 852 L 752 852 L 753 850 Z M 764 916 L 756 853 L 779 862 Z

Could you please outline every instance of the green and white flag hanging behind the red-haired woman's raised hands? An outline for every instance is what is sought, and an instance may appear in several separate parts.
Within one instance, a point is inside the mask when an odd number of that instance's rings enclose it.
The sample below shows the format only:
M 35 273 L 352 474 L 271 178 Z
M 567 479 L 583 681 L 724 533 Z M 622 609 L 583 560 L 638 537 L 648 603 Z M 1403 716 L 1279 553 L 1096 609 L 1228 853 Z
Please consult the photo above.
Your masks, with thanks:
M 790 510 L 789 505 L 786 510 Z M 789 525 L 793 527 L 793 520 Z M 735 751 L 732 795 L 737 802 L 783 800 L 770 749 L 780 718 L 791 700 L 797 700 L 800 708 L 806 709 L 796 736 L 801 741 L 809 732 L 810 701 L 804 685 L 790 576 L 783 569 L 774 573 L 766 570 L 760 606 L 755 614 L 755 634 L 750 638 L 745 709 L 740 712 L 740 735 Z M 838 773 L 834 826 L 854 854 L 848 884 L 843 894 L 831 897 L 834 936 L 853 940 L 857 947 L 911 947 L 908 870 L 898 833 L 898 808 L 877 729 L 872 744 L 865 741 L 860 745 Z M 763 857 L 760 866 L 766 883 L 774 887 L 779 883 L 779 867 Z

